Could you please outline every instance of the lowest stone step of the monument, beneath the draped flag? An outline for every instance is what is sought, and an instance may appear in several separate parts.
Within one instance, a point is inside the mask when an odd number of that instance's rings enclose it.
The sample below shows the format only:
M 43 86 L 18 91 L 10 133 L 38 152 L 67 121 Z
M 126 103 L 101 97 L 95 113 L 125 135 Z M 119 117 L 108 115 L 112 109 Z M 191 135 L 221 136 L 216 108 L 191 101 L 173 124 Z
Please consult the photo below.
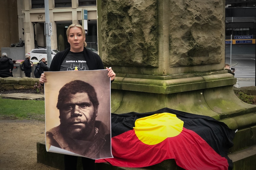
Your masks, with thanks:
M 256 145 L 250 146 L 246 149 L 230 153 L 228 157 L 233 160 L 233 170 L 248 170 L 256 167 Z M 184 160 L 186 161 L 186 160 Z M 45 141 L 37 142 L 37 162 L 45 165 L 64 169 L 64 155 L 60 153 L 47 152 L 45 149 Z M 77 170 L 82 170 L 81 159 L 78 158 Z M 176 165 L 174 159 L 168 159 L 153 166 L 142 168 L 125 168 L 111 166 L 109 163 L 96 163 L 96 170 L 184 170 Z

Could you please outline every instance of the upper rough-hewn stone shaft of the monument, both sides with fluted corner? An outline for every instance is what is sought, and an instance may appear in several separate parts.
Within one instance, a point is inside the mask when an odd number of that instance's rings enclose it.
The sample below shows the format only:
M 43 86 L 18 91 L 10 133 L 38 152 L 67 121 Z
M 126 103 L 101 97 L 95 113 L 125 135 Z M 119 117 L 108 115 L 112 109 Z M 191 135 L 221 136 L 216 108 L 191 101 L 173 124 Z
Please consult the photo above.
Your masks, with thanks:
M 222 60 L 222 0 L 101 3 L 102 61 L 107 65 L 159 67 L 162 53 L 170 67 Z

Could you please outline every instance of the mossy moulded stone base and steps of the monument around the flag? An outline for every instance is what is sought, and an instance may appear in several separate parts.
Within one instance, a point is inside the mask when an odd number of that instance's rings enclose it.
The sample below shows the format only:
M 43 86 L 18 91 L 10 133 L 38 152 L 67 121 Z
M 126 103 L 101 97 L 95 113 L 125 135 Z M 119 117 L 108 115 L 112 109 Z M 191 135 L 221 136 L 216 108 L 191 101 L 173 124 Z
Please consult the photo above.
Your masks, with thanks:
M 233 91 L 236 78 L 222 70 L 177 76 L 118 75 L 111 84 L 111 112 L 116 114 L 146 113 L 170 108 L 192 114 L 211 116 L 238 131 L 229 149 L 235 169 L 256 167 L 256 105 L 244 103 Z M 37 161 L 63 169 L 63 155 L 48 153 L 45 143 L 37 143 Z M 186 161 L 186 160 L 184 160 Z M 79 164 L 81 166 L 81 163 Z M 134 170 L 108 163 L 97 163 L 96 169 Z M 174 159 L 144 170 L 181 170 Z

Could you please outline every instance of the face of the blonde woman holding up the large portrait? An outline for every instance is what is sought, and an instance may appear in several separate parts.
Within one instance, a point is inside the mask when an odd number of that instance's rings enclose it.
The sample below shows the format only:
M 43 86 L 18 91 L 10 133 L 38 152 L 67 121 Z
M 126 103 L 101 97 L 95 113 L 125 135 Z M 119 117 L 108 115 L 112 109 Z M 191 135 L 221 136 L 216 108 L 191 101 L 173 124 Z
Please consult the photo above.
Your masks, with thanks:
M 85 41 L 85 36 L 83 36 L 82 30 L 80 28 L 70 28 L 67 40 L 70 44 L 70 51 L 83 51 L 83 42 Z

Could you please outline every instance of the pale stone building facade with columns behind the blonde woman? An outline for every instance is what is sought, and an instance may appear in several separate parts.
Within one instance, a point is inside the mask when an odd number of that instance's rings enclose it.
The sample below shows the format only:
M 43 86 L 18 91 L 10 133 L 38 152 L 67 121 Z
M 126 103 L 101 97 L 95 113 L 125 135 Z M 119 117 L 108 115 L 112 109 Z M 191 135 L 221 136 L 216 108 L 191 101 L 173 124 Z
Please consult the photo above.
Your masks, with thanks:
M 97 6 L 93 0 L 49 0 L 49 20 L 52 23 L 51 48 L 62 51 L 69 46 L 66 30 L 71 24 L 82 25 L 82 10 L 87 10 L 86 42 L 97 48 Z M 19 35 L 24 29 L 25 51 L 46 47 L 44 0 L 18 0 Z M 22 36 L 22 35 L 21 35 Z M 90 43 L 89 43 L 90 45 Z

